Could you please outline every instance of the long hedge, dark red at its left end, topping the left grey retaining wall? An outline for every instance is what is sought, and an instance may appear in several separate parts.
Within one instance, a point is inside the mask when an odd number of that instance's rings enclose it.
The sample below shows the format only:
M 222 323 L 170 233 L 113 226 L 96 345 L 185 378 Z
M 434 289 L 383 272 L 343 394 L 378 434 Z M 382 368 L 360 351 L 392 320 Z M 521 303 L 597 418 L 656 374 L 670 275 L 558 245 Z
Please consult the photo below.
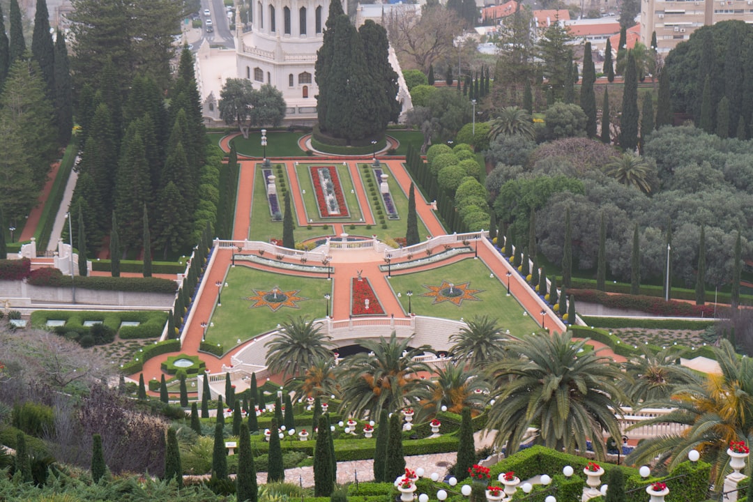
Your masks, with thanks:
M 71 285 L 71 278 L 62 275 L 58 269 L 45 268 L 34 270 L 28 279 L 34 286 L 53 288 Z M 133 291 L 139 293 L 175 293 L 175 281 L 157 277 L 84 277 L 75 275 L 76 288 L 96 291 Z

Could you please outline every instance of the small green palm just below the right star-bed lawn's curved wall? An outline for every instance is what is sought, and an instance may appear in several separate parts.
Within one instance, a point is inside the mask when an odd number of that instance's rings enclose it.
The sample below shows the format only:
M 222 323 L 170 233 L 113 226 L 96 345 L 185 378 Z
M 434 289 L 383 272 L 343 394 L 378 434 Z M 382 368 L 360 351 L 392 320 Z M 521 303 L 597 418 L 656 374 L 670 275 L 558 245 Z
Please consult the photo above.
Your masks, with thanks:
M 505 357 L 508 338 L 495 318 L 484 315 L 465 321 L 465 327 L 450 335 L 449 341 L 453 343 L 450 354 L 454 361 L 470 368 L 481 368 Z

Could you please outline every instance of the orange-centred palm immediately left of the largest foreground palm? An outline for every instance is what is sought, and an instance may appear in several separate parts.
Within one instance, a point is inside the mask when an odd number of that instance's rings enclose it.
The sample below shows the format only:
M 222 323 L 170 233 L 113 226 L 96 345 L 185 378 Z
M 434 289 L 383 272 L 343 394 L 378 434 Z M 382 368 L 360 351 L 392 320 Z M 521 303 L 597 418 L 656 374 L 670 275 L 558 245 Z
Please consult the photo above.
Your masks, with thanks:
M 462 364 L 452 362 L 434 371 L 437 375 L 431 378 L 425 393 L 420 394 L 423 411 L 428 416 L 436 415 L 441 406 L 447 406 L 448 412 L 458 415 L 466 406 L 476 415 L 486 406 L 489 384 L 477 371 L 466 370 Z

